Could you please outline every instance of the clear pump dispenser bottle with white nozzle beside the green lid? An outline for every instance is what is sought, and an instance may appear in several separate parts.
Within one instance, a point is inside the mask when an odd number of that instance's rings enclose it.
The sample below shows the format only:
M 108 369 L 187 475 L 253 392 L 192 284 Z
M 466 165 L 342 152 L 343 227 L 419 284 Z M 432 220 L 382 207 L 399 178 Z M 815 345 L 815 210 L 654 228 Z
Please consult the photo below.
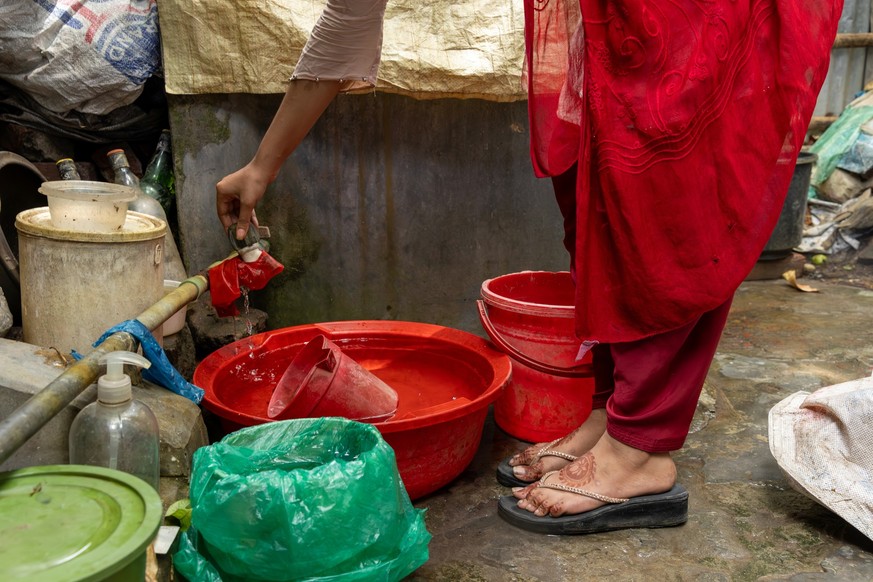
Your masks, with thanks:
M 70 427 L 70 463 L 98 465 L 136 475 L 158 490 L 160 436 L 148 406 L 133 399 L 124 364 L 143 368 L 151 362 L 132 352 L 100 358 L 106 374 L 97 380 L 97 401 L 76 416 Z

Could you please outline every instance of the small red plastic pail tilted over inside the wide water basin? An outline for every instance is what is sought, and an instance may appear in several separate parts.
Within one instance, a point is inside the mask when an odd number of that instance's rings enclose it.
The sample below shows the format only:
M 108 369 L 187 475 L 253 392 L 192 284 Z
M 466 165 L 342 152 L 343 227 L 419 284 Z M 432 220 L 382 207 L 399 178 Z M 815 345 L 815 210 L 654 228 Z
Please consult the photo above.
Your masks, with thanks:
M 360 422 L 387 420 L 397 411 L 397 392 L 318 335 L 297 353 L 279 378 L 267 416 L 341 416 Z

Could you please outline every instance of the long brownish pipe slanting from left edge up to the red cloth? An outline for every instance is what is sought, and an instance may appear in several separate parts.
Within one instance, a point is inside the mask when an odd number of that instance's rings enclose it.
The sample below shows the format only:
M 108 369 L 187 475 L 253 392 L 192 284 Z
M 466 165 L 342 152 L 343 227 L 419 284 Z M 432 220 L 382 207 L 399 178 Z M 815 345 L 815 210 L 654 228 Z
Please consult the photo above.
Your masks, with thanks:
M 179 287 L 143 311 L 137 320 L 154 331 L 208 288 L 209 279 L 202 274 L 185 279 Z M 129 333 L 113 333 L 0 421 L 0 464 L 97 380 L 103 355 L 119 350 L 132 351 L 135 346 L 136 339 Z

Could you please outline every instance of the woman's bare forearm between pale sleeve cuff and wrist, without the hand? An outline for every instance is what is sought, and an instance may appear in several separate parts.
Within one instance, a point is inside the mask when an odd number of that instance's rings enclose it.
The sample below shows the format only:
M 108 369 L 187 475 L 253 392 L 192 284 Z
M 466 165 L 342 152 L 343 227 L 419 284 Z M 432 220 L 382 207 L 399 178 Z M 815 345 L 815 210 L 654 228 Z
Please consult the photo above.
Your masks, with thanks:
M 291 81 L 251 162 L 268 182 L 275 180 L 282 164 L 300 145 L 339 89 L 339 81 Z

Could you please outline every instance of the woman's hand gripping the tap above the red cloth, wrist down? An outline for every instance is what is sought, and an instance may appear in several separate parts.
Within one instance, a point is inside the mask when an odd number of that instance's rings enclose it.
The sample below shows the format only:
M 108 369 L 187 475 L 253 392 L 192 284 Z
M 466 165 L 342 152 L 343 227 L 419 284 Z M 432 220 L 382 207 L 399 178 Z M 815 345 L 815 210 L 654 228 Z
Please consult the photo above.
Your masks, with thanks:
M 248 232 L 249 223 L 258 224 L 255 206 L 270 180 L 252 164 L 222 178 L 215 185 L 215 207 L 218 219 L 227 229 L 234 222 L 237 225 L 236 238 L 242 240 Z

